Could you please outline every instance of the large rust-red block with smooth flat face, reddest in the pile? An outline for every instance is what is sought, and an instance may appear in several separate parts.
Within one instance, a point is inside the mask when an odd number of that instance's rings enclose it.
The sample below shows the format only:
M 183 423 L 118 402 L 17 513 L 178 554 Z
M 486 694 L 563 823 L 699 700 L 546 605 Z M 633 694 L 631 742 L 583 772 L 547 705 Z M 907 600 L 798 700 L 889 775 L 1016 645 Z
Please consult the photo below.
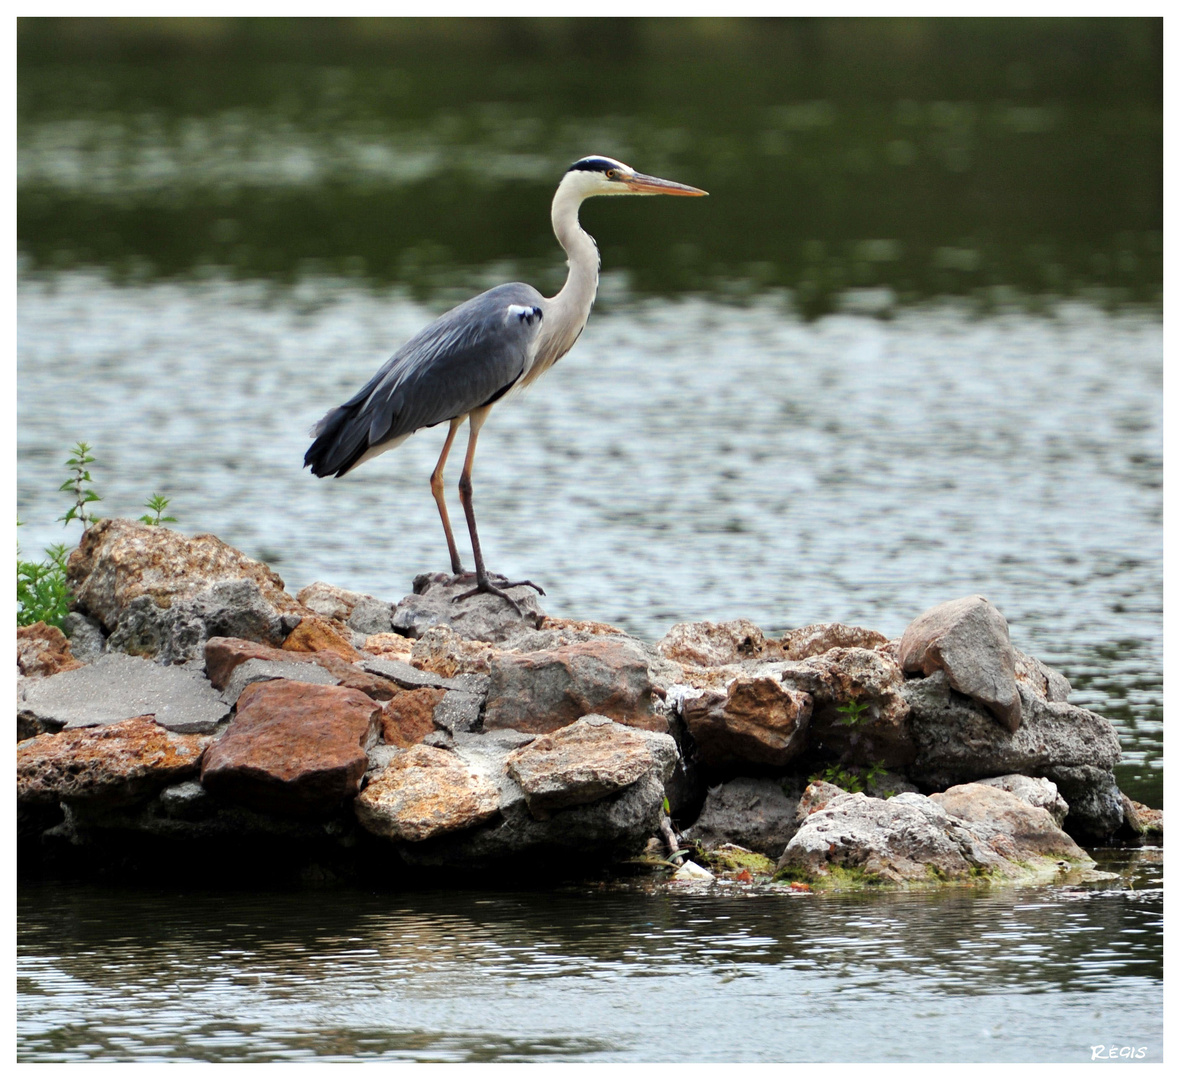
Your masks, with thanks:
M 356 794 L 381 707 L 360 690 L 276 680 L 248 686 L 205 754 L 210 792 L 269 813 L 326 816 Z

